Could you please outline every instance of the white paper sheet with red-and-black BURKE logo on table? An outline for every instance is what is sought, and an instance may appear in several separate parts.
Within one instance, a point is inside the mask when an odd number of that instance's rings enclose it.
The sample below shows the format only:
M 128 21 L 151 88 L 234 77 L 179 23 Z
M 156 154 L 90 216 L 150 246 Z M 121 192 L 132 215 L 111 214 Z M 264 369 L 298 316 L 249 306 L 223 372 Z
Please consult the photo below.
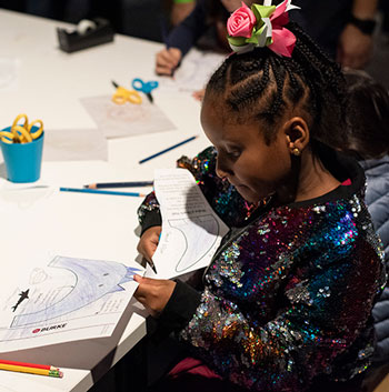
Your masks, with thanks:
M 0 352 L 111 335 L 143 272 L 136 262 L 59 255 L 32 268 L 1 290 Z

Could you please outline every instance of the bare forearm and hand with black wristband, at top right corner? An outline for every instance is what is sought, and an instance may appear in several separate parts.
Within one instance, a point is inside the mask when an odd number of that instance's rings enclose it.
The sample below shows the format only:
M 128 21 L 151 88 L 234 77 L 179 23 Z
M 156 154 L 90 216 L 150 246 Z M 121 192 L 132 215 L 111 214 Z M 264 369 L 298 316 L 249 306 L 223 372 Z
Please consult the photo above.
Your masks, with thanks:
M 372 54 L 372 31 L 378 0 L 353 0 L 351 19 L 341 32 L 337 61 L 342 67 L 362 69 Z

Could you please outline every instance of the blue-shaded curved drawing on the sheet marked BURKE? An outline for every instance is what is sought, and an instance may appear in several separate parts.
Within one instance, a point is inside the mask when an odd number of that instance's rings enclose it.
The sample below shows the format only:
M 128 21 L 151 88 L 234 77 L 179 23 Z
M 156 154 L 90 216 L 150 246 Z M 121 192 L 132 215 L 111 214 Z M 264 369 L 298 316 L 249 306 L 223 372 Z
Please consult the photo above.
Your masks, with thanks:
M 107 294 L 123 291 L 121 284 L 132 281 L 133 274 L 140 271 L 113 261 L 66 257 L 56 257 L 48 267 L 61 271 L 50 275 L 43 269 L 32 271 L 31 285 L 27 290 L 29 296 L 23 295 L 28 300 L 20 305 L 11 328 L 61 318 L 92 304 Z

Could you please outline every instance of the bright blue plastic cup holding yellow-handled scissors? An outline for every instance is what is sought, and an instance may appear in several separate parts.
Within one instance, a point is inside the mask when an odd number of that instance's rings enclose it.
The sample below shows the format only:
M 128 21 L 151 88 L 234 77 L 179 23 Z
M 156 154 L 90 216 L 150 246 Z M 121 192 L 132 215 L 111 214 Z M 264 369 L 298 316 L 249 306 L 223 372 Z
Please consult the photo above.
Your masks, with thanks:
M 38 131 L 32 127 L 31 133 Z M 11 127 L 2 131 L 11 131 Z M 34 182 L 40 178 L 42 164 L 44 132 L 28 143 L 4 143 L 0 140 L 1 152 L 6 163 L 7 178 L 12 182 Z

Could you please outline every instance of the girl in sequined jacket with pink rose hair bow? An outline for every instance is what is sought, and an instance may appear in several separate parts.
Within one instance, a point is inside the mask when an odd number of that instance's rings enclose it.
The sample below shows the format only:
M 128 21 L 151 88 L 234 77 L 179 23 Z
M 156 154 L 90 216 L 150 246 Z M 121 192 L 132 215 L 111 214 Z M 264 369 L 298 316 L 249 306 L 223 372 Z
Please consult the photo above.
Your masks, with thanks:
M 325 144 L 339 145 L 346 127 L 343 79 L 285 26 L 289 7 L 231 16 L 239 53 L 211 77 L 201 110 L 215 148 L 180 161 L 231 228 L 200 291 L 136 277 L 156 336 L 173 332 L 188 348 L 159 390 L 358 391 L 370 363 L 380 241 L 363 171 Z M 150 259 L 161 230 L 153 194 L 139 212 Z

